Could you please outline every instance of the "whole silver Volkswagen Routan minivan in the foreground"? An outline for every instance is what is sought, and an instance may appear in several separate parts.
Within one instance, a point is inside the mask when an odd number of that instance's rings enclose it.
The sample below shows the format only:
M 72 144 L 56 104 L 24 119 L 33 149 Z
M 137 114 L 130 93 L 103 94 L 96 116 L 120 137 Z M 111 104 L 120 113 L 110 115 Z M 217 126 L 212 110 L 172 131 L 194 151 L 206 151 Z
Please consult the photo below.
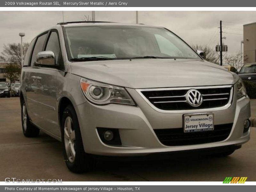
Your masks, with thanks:
M 34 38 L 21 71 L 23 133 L 62 142 L 73 172 L 93 155 L 146 156 L 250 139 L 250 100 L 235 73 L 166 28 L 60 23 Z

